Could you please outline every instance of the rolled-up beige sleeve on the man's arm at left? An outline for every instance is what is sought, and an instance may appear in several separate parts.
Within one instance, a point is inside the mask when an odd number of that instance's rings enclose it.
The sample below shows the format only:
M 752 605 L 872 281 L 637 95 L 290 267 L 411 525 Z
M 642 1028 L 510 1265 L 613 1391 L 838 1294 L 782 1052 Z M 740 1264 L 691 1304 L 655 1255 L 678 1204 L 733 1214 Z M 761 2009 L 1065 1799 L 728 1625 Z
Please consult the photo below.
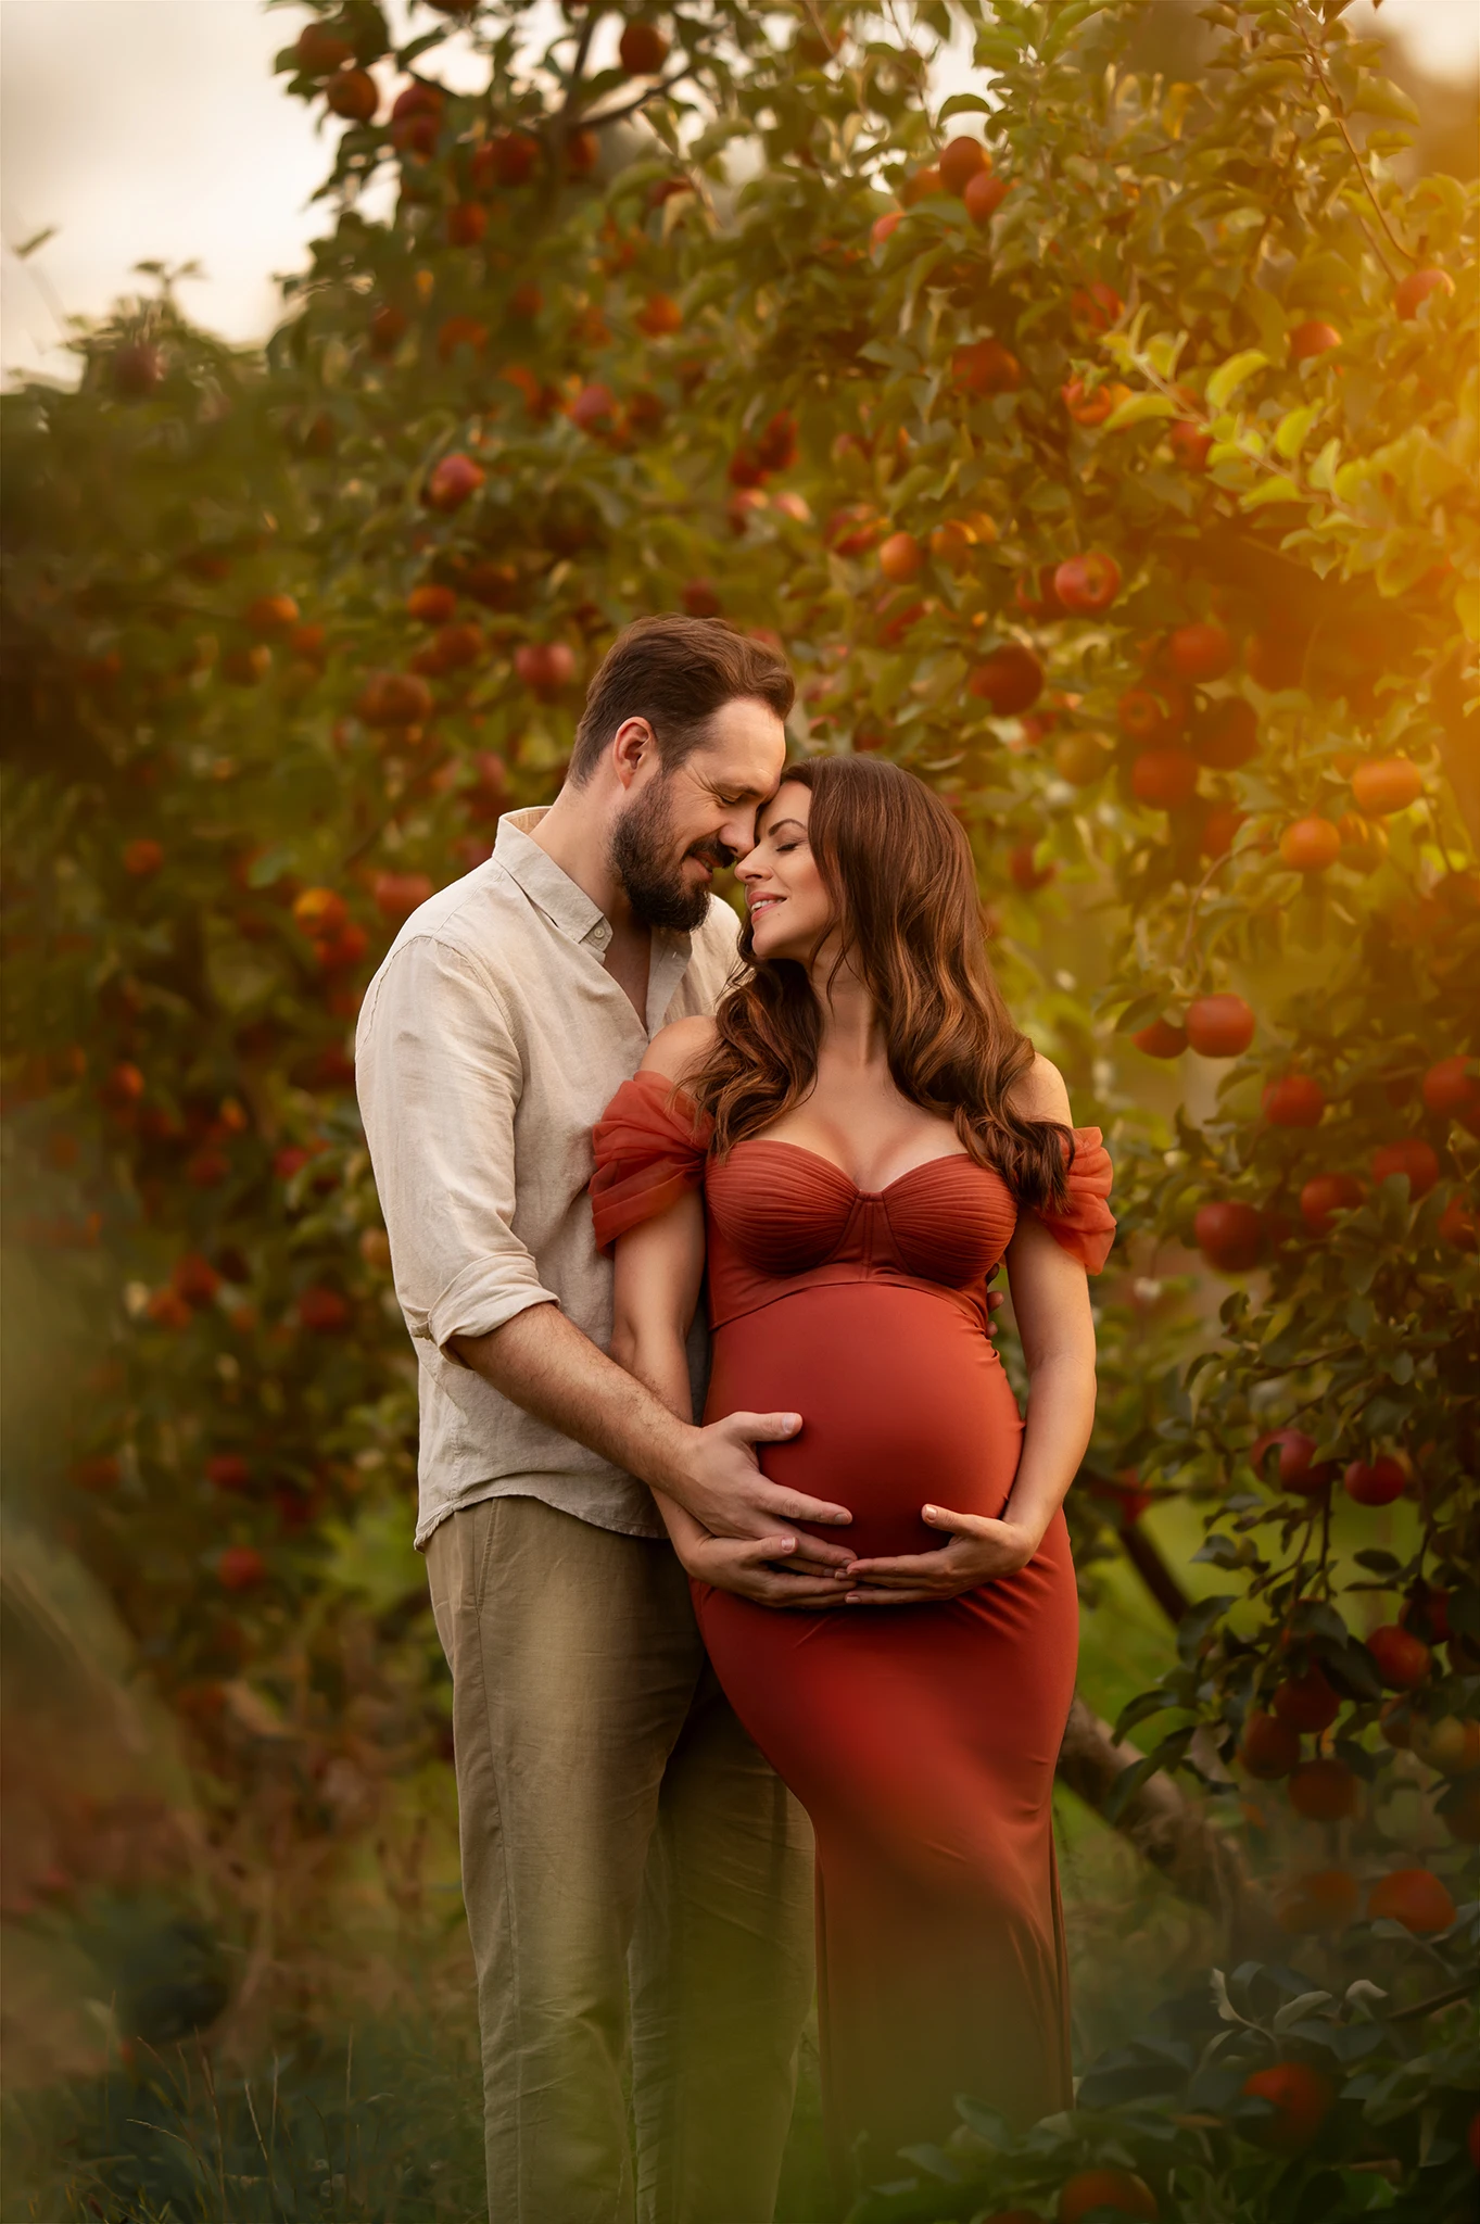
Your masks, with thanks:
M 413 936 L 373 983 L 356 1085 L 396 1297 L 413 1337 L 449 1350 L 558 1297 L 513 1232 L 522 1063 L 491 981 Z

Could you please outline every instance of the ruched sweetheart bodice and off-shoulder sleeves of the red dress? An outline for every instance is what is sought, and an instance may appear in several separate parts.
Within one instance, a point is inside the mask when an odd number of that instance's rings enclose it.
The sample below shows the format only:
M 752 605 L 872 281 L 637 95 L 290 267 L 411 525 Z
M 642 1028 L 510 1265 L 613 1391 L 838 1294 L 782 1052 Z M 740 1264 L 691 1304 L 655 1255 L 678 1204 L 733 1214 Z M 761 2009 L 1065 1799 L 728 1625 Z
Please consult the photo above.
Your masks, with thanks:
M 1098 1272 L 1116 1234 L 1111 1163 L 1098 1128 L 1073 1136 L 1064 1210 L 1042 1219 Z M 598 1243 L 616 1243 L 691 1188 L 704 1190 L 713 1328 L 829 1281 L 927 1288 L 984 1323 L 987 1281 L 1018 1225 L 1002 1176 L 964 1152 L 927 1159 L 884 1190 L 860 1190 L 831 1159 L 773 1136 L 716 1159 L 693 1099 L 662 1074 L 624 1081 L 596 1128 Z

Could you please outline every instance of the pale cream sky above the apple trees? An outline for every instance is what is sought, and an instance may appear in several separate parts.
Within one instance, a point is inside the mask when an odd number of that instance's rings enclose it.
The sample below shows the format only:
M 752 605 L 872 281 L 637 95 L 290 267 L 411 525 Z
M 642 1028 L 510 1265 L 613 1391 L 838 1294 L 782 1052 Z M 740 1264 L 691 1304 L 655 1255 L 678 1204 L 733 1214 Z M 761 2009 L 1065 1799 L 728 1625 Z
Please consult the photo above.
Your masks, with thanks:
M 69 376 L 64 318 L 138 289 L 144 258 L 202 267 L 180 289 L 202 325 L 233 340 L 271 329 L 273 274 L 302 262 L 327 169 L 313 113 L 271 76 L 302 20 L 262 0 L 0 0 L 7 371 Z M 1433 76 L 1476 67 L 1476 0 L 1382 0 L 1380 27 Z

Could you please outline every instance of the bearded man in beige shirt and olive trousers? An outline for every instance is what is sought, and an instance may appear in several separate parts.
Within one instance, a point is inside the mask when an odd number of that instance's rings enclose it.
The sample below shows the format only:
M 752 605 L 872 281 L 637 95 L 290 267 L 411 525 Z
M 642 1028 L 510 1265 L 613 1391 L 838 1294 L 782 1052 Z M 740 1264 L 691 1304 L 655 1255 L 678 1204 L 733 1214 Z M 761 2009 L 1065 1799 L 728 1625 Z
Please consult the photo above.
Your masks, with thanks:
M 727 625 L 629 627 L 558 801 L 509 812 L 487 865 L 413 912 L 360 1014 L 420 1370 L 493 2224 L 767 2224 L 776 2202 L 811 1841 L 704 1659 L 647 1483 L 742 1592 L 778 1555 L 798 1588 L 844 1566 L 796 1523 L 847 1515 L 760 1472 L 796 1414 L 693 1428 L 613 1366 L 587 1181 L 649 1036 L 731 972 L 709 883 L 751 845 L 791 701 L 784 661 Z M 691 1370 L 700 1410 L 700 1341 Z

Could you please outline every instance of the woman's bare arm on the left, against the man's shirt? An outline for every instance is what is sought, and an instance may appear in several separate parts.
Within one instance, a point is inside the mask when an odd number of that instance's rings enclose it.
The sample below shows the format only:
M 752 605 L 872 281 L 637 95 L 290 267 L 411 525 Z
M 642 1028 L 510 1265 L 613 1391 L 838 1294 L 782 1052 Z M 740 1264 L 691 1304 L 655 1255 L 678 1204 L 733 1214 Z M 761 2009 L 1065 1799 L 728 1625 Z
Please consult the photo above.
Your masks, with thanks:
M 649 1043 L 642 1072 L 682 1083 L 709 1039 L 711 1021 L 682 1019 Z M 704 1203 L 684 1192 L 667 1212 L 618 1237 L 611 1312 L 611 1357 L 662 1399 L 680 1421 L 693 1421 L 689 1330 L 704 1285 Z M 658 1512 L 689 1575 L 767 1606 L 838 1604 L 838 1577 L 782 1575 L 769 1563 L 796 1552 L 796 1537 L 711 1537 L 682 1506 L 653 1490 Z

